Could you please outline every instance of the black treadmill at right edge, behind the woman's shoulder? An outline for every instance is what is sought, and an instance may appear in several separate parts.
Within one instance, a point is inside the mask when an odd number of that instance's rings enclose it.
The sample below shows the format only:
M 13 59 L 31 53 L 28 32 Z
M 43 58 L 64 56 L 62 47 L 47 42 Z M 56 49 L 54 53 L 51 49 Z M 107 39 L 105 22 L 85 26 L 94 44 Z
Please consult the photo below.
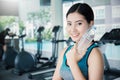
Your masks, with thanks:
M 120 28 L 112 29 L 110 32 L 107 32 L 102 36 L 102 38 L 100 39 L 100 45 L 101 46 L 106 45 L 107 43 L 110 43 L 110 45 L 114 44 L 115 47 L 119 47 Z M 110 48 L 110 50 L 111 49 L 112 48 Z M 112 49 L 112 52 L 115 52 L 115 50 Z M 120 69 L 110 67 L 106 54 L 107 53 L 103 53 L 104 62 L 105 62 L 105 66 L 104 66 L 105 80 L 113 80 L 113 79 L 109 79 L 109 76 L 114 76 L 114 79 L 120 77 Z

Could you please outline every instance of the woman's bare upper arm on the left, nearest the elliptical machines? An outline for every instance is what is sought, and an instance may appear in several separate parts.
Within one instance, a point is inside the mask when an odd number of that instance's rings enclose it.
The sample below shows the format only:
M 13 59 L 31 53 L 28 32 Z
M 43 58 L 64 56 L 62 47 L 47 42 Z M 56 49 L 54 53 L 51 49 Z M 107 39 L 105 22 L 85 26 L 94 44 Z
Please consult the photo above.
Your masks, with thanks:
M 63 51 L 60 52 L 60 54 L 59 54 L 57 66 L 56 66 L 55 72 L 53 74 L 52 80 L 62 80 L 62 78 L 60 77 L 59 72 L 60 72 L 60 67 L 61 67 L 62 60 L 63 60 L 63 55 L 64 55 L 66 49 L 67 48 L 63 49 Z

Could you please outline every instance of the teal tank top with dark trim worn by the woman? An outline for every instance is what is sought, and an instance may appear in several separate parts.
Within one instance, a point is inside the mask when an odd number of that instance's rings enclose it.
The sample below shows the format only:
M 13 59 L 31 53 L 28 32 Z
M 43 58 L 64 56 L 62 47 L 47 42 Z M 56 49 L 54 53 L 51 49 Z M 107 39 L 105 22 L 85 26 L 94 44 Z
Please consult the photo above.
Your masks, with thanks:
M 63 78 L 63 80 L 74 80 L 72 73 L 70 71 L 70 68 L 67 65 L 67 60 L 66 60 L 66 54 L 72 48 L 72 46 L 73 45 L 71 45 L 67 48 L 67 50 L 65 51 L 64 56 L 63 56 L 63 62 L 62 62 L 61 68 L 60 68 L 60 76 Z M 97 43 L 93 43 L 91 46 L 89 46 L 86 51 L 86 54 L 78 62 L 78 66 L 86 79 L 88 79 L 88 64 L 87 64 L 88 57 L 89 57 L 91 50 L 95 47 L 98 47 Z

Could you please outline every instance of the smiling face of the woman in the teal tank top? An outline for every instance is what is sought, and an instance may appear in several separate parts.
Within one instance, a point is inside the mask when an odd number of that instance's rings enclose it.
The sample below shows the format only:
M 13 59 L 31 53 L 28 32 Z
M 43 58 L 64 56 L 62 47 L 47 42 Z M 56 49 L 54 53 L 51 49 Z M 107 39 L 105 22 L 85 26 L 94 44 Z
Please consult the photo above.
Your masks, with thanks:
M 90 27 L 83 15 L 77 12 L 67 16 L 67 32 L 73 41 L 78 42 L 86 30 Z

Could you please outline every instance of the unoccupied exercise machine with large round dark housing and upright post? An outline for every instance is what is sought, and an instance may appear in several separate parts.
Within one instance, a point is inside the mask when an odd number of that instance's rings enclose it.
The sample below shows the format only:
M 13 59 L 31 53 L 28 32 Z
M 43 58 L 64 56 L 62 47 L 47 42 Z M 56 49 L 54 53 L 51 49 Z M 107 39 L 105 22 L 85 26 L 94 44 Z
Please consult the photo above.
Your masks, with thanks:
M 16 56 L 15 61 L 14 61 L 15 68 L 14 68 L 13 72 L 18 75 L 21 75 L 23 72 L 30 71 L 30 70 L 34 69 L 34 67 L 35 67 L 34 56 L 24 50 L 23 37 L 25 37 L 25 36 L 26 36 L 26 34 L 19 36 L 19 39 L 21 39 L 21 42 L 22 42 L 22 44 L 21 44 L 22 48 L 21 48 L 21 51 L 19 52 L 19 54 Z

